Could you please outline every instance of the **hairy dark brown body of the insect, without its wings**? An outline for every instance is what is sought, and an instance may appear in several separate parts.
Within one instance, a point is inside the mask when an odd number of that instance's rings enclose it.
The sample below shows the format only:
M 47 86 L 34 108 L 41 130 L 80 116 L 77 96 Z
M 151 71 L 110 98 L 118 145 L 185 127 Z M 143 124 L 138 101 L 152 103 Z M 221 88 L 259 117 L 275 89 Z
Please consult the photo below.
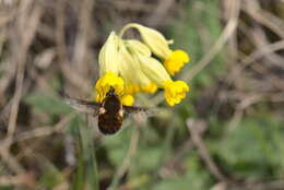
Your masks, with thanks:
M 98 128 L 105 134 L 117 132 L 122 126 L 123 110 L 113 88 L 107 93 L 98 114 Z

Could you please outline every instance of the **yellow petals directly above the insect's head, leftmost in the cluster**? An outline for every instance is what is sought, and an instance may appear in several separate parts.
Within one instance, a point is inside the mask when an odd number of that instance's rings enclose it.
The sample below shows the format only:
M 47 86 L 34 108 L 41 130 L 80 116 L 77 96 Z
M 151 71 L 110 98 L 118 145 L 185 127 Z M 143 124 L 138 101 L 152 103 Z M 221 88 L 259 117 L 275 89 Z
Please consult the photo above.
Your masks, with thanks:
M 113 72 L 106 72 L 100 79 L 97 80 L 96 90 L 96 102 L 102 103 L 106 97 L 106 94 L 110 90 L 110 86 L 115 88 L 115 93 L 121 95 L 123 92 L 123 80 Z

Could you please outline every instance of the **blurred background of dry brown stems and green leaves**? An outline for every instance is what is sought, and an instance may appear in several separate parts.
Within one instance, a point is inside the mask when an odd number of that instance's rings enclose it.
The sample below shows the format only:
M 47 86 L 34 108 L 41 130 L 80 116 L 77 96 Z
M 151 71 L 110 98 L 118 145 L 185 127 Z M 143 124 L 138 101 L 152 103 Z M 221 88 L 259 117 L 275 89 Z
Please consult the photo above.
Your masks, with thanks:
M 129 22 L 189 52 L 191 91 L 104 136 L 58 92 L 91 99 Z M 0 190 L 283 190 L 283 0 L 0 0 Z

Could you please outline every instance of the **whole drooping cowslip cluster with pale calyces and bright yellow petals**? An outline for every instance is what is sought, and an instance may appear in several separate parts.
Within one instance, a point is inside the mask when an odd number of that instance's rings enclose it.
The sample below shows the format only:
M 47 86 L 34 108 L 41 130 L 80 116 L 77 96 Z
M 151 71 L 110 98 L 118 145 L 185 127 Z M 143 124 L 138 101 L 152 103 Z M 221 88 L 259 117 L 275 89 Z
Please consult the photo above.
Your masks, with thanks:
M 129 28 L 137 29 L 141 40 L 123 39 Z M 96 100 L 102 102 L 113 86 L 123 105 L 132 105 L 137 93 L 153 94 L 157 88 L 164 88 L 168 105 L 180 103 L 189 86 L 184 81 L 173 81 L 170 75 L 189 62 L 189 56 L 171 50 L 170 44 L 159 32 L 135 23 L 127 24 L 119 35 L 111 32 L 98 55 Z

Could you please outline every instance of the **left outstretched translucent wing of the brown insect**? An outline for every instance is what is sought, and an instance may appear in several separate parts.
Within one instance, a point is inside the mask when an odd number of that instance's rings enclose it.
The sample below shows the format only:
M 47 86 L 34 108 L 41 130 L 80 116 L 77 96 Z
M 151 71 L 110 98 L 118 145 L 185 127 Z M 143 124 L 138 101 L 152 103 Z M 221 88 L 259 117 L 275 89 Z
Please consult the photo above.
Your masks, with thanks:
M 95 102 L 88 102 L 84 99 L 78 99 L 78 98 L 72 98 L 68 95 L 63 96 L 66 104 L 74 108 L 75 110 L 84 114 L 90 114 L 93 116 L 98 115 L 98 110 L 100 107 L 99 103 Z

